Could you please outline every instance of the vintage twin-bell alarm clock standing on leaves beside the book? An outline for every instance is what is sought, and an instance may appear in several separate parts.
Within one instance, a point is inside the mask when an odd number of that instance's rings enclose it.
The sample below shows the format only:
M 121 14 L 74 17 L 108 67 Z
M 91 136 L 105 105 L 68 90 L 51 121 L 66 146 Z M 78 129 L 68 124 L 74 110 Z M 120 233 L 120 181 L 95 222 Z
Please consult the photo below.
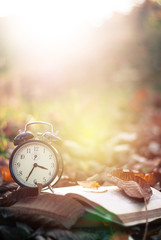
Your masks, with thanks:
M 36 133 L 36 136 L 28 127 L 33 124 L 43 124 L 50 128 L 49 132 Z M 20 187 L 42 188 L 49 187 L 53 192 L 53 186 L 59 181 L 63 172 L 63 161 L 55 145 L 60 144 L 61 139 L 54 134 L 53 126 L 42 121 L 29 122 L 25 129 L 14 138 L 14 145 L 9 169 L 12 178 Z M 54 145 L 54 146 L 53 146 Z

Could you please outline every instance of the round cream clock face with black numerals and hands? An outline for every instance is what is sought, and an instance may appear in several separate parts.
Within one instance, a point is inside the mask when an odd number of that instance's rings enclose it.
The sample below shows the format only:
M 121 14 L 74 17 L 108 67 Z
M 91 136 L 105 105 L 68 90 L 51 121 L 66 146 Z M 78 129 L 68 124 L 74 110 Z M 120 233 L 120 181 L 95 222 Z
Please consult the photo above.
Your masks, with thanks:
M 57 152 L 49 144 L 30 140 L 18 146 L 10 158 L 13 179 L 21 186 L 49 185 L 58 171 Z

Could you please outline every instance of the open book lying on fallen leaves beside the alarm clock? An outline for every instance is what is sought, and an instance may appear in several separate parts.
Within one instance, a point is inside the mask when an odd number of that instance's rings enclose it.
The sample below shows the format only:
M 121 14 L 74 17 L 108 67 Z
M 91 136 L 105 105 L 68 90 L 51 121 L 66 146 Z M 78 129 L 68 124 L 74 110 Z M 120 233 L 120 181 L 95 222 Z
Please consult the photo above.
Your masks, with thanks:
M 161 192 L 152 188 L 153 195 L 148 201 L 148 221 L 161 218 Z M 55 188 L 55 194 L 69 194 L 75 199 L 87 203 L 88 211 L 104 221 L 109 221 L 113 213 L 117 218 L 114 222 L 131 226 L 146 222 L 144 202 L 132 199 L 116 186 L 99 187 L 98 190 L 81 186 Z M 113 221 L 113 220 L 112 220 Z

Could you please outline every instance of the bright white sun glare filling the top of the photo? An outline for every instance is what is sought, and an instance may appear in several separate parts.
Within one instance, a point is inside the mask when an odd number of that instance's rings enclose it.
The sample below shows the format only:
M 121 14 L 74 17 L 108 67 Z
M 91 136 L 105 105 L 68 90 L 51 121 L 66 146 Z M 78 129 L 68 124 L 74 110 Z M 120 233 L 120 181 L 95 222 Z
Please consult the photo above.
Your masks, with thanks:
M 82 52 L 92 29 L 101 27 L 114 12 L 126 14 L 142 1 L 0 0 L 0 17 L 10 17 L 7 38 L 20 55 L 29 58 L 29 65 L 36 69 L 43 56 L 43 66 L 50 68 L 51 62 L 62 65 L 69 56 Z

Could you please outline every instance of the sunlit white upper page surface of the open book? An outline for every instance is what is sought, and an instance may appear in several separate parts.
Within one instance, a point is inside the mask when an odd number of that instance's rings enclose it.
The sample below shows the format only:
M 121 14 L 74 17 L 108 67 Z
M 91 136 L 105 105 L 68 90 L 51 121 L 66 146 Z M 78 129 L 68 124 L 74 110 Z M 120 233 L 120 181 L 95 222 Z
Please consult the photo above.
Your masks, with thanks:
M 116 215 L 144 212 L 144 202 L 134 200 L 128 197 L 122 190 L 116 186 L 100 187 L 98 191 L 91 192 L 92 189 L 86 189 L 81 186 L 55 188 L 56 194 L 74 193 L 79 194 L 90 201 L 97 203 L 108 211 Z M 148 210 L 161 209 L 161 193 L 152 188 L 153 195 L 148 201 Z M 160 214 L 161 216 L 161 214 Z

